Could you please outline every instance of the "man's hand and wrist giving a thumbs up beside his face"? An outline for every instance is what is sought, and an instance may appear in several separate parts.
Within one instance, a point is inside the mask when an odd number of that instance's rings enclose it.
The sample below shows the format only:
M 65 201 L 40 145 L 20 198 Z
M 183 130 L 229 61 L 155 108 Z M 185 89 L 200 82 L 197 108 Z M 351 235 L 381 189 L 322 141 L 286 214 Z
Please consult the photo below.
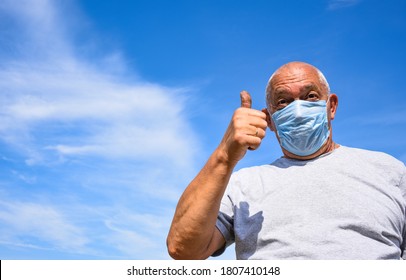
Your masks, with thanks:
M 226 133 L 218 147 L 231 164 L 237 164 L 247 150 L 256 150 L 265 137 L 266 114 L 251 109 L 252 99 L 247 91 L 241 91 L 241 107 L 235 110 Z

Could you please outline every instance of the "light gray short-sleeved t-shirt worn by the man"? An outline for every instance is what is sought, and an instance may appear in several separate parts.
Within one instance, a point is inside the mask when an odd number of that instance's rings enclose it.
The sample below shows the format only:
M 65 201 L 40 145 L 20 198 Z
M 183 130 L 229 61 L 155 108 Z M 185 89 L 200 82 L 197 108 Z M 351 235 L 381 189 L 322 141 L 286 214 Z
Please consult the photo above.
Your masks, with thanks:
M 216 226 L 237 259 L 406 258 L 406 168 L 343 146 L 244 168 L 230 179 Z

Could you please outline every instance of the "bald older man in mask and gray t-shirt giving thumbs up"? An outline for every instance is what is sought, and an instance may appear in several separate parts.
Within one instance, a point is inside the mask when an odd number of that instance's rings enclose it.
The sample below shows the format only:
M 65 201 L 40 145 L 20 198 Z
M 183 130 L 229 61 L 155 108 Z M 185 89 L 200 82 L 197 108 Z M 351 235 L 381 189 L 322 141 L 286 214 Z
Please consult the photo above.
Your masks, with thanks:
M 237 259 L 405 258 L 405 165 L 333 141 L 338 97 L 312 65 L 275 71 L 266 103 L 251 109 L 241 92 L 220 145 L 179 200 L 169 254 L 206 259 L 235 242 Z M 283 157 L 234 172 L 267 127 Z

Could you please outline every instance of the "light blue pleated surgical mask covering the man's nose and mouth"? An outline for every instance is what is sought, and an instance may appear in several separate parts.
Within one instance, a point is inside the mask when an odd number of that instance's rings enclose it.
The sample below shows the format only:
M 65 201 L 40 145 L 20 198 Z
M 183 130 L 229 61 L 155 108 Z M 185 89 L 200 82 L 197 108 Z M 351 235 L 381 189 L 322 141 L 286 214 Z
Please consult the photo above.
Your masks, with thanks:
M 272 120 L 280 145 L 298 156 L 317 152 L 330 135 L 326 108 L 325 100 L 295 100 L 276 111 Z

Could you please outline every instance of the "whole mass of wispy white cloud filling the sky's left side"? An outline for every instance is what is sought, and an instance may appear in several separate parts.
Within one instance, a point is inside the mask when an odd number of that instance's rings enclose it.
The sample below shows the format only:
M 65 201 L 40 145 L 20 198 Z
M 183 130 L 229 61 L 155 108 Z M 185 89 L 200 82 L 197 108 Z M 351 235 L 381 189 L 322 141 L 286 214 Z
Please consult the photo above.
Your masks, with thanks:
M 164 240 L 172 213 L 162 211 L 177 199 L 198 148 L 184 111 L 190 89 L 126 71 L 120 51 L 79 56 L 60 15 L 52 0 L 0 3 L 8 26 L 0 30 L 7 38 L 0 44 L 0 151 L 24 159 L 2 167 L 0 243 L 163 256 L 156 240 Z M 6 156 L 2 162 L 11 164 Z

